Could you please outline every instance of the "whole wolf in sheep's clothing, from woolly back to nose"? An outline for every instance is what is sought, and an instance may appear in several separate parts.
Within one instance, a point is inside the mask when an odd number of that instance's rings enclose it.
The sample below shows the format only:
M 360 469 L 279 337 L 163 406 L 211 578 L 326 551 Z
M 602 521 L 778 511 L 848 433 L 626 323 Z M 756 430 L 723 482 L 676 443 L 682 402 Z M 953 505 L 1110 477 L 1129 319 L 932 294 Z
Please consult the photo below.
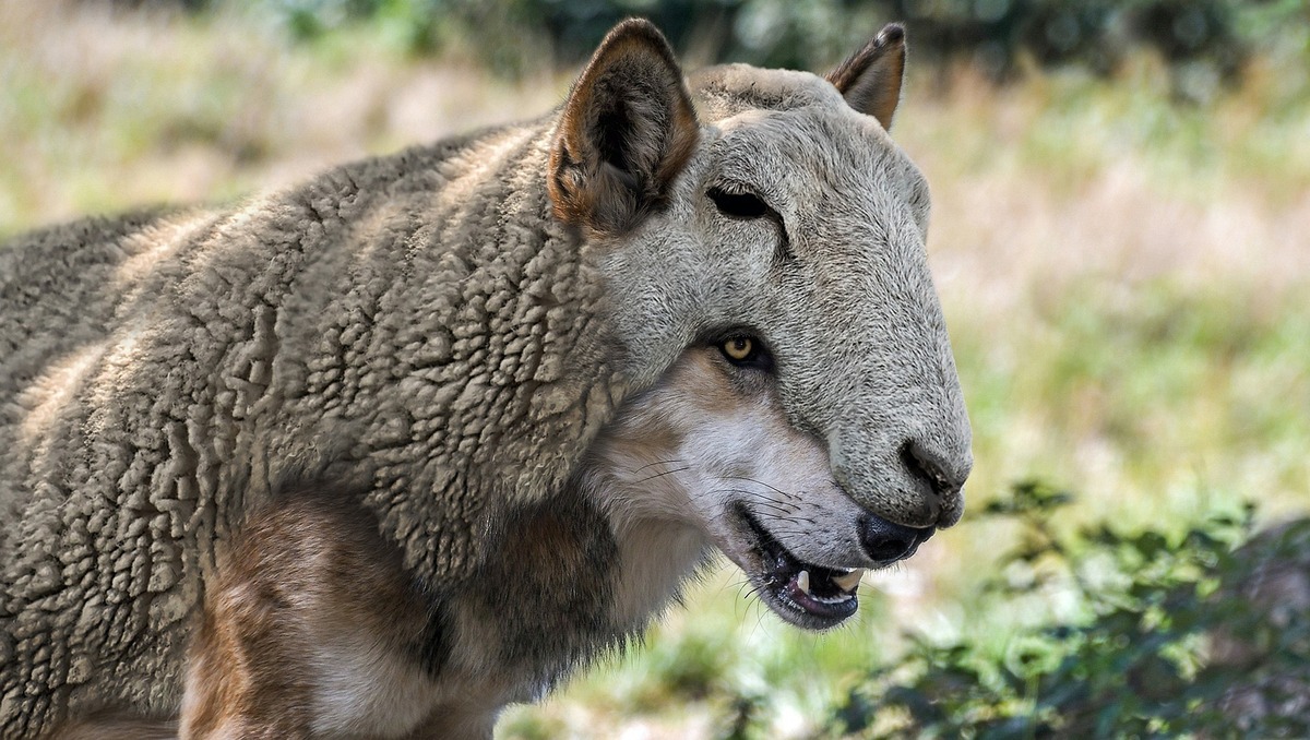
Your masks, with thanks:
M 958 520 L 904 34 L 0 249 L 0 735 L 460 737 L 724 553 L 783 620 Z

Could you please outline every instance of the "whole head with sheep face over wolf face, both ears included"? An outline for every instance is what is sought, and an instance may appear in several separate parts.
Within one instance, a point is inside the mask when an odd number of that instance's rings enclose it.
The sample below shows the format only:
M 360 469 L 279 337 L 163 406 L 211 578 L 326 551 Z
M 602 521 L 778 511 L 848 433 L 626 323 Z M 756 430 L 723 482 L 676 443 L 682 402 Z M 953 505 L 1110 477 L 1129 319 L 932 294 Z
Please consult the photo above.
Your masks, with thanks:
M 802 626 L 840 622 L 857 568 L 954 524 L 972 465 L 927 186 L 887 134 L 904 62 L 891 25 L 827 77 L 686 83 L 627 21 L 550 156 L 555 216 L 599 253 L 646 389 L 605 447 L 614 508 L 703 533 Z

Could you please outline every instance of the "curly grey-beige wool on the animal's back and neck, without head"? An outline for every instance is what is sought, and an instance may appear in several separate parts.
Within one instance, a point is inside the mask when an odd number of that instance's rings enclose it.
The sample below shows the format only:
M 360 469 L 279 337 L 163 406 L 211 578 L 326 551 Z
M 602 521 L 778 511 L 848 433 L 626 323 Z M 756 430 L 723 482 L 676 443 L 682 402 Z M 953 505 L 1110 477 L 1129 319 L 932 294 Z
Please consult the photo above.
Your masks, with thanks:
M 358 486 L 436 587 L 563 485 L 626 388 L 550 134 L 0 248 L 0 735 L 176 711 L 215 544 L 282 481 Z

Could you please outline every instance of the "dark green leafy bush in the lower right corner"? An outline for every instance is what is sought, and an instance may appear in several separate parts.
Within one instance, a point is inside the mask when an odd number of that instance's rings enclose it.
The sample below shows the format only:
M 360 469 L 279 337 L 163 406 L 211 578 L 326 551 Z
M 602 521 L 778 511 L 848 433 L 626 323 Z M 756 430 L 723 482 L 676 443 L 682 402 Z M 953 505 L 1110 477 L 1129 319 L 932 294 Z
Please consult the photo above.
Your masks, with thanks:
M 1260 574 L 1306 583 L 1310 520 L 1234 550 L 1251 511 L 1182 536 L 1098 524 L 1060 534 L 1072 496 L 1036 482 L 986 507 L 1022 536 L 988 583 L 990 608 L 1072 593 L 1082 618 L 1045 621 L 1002 655 L 912 637 L 834 707 L 833 733 L 866 737 L 1301 737 L 1310 733 L 1310 618 L 1277 609 Z M 1269 579 L 1265 578 L 1265 582 Z M 1272 583 L 1272 582 L 1269 582 Z

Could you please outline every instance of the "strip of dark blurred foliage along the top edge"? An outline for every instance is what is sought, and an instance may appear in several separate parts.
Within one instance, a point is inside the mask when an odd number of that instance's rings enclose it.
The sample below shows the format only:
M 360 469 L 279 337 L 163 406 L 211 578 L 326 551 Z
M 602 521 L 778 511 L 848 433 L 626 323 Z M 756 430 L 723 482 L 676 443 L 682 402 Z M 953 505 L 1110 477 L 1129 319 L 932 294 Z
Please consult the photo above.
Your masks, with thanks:
M 507 73 L 540 69 L 542 48 L 557 64 L 575 64 L 630 16 L 651 18 L 675 46 L 710 60 L 794 68 L 831 64 L 901 20 L 917 52 L 967 58 L 996 77 L 1022 59 L 1107 73 L 1128 47 L 1148 46 L 1178 67 L 1184 93 L 1235 80 L 1252 38 L 1307 20 L 1300 3 L 1239 0 L 267 0 L 266 8 L 297 39 L 377 22 L 407 51 L 464 43 Z

